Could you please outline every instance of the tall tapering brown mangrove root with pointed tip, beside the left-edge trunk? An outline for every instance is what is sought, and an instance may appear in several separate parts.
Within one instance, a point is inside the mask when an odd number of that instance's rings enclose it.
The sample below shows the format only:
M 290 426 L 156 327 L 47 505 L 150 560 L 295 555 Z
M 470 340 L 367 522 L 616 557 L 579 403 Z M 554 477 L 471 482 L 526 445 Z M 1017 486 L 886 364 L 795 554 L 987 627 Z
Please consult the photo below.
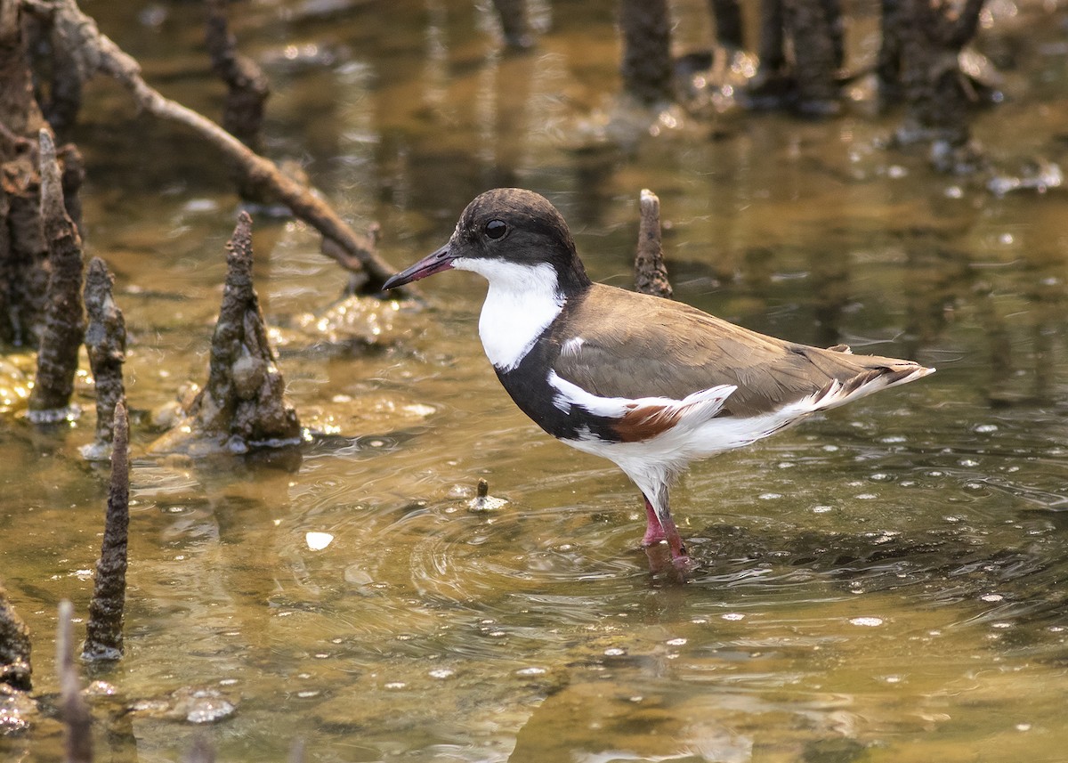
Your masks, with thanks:
M 67 415 L 78 349 L 85 331 L 81 303 L 81 238 L 63 205 L 63 185 L 56 145 L 41 130 L 41 215 L 48 242 L 51 274 L 45 306 L 45 330 L 37 353 L 37 375 L 30 393 L 28 417 L 45 423 Z

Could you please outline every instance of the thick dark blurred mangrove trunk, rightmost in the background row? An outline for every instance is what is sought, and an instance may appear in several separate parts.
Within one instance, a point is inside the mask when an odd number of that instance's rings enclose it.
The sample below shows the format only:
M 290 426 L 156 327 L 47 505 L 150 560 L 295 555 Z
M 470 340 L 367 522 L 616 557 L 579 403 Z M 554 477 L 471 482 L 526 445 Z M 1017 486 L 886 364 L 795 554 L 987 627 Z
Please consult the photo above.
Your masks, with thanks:
M 941 170 L 967 169 L 975 158 L 968 147 L 973 98 L 958 57 L 975 35 L 984 0 L 965 0 L 956 15 L 947 2 L 901 2 L 901 82 L 909 116 L 899 137 L 929 140 Z

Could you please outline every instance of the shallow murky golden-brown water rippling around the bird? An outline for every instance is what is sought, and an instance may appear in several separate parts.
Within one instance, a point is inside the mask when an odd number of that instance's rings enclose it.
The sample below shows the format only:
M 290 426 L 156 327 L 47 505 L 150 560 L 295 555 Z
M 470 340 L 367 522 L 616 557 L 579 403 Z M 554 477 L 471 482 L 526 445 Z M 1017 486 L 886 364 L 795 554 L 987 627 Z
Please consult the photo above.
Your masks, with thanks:
M 89 676 L 115 692 L 93 701 L 98 759 L 173 761 L 204 734 L 223 761 L 297 738 L 324 762 L 1064 760 L 1064 192 L 934 176 L 878 147 L 897 118 L 864 104 L 611 147 L 612 3 L 551 5 L 524 57 L 466 2 L 239 5 L 274 87 L 271 155 L 378 220 L 398 266 L 477 192 L 522 185 L 559 204 L 595 278 L 627 284 L 649 187 L 678 298 L 939 373 L 691 469 L 675 507 L 700 564 L 679 585 L 638 549 L 626 478 L 498 387 L 481 281 L 426 282 L 426 310 L 337 307 L 317 237 L 257 219 L 260 294 L 314 435 L 296 455 L 136 460 L 127 655 Z M 195 4 L 84 7 L 167 94 L 218 109 Z M 1068 17 L 1022 18 L 998 22 L 1017 66 L 976 122 L 1008 172 L 1065 159 Z M 89 100 L 88 240 L 116 272 L 143 452 L 147 411 L 206 376 L 235 200 L 187 136 L 109 83 Z M 84 613 L 103 524 L 81 403 L 75 427 L 9 417 L 0 439 L 0 577 L 46 706 L 56 605 Z M 478 478 L 508 502 L 472 512 Z M 60 760 L 58 726 L 0 737 L 0 758 Z

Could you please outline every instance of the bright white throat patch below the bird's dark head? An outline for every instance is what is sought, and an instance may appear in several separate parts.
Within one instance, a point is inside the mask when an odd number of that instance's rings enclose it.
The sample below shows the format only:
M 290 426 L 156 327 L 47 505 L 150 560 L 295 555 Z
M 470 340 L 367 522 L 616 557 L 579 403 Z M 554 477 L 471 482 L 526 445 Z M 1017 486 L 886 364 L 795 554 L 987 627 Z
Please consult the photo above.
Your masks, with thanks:
M 481 258 L 457 258 L 453 267 L 489 281 L 478 336 L 489 362 L 498 371 L 512 371 L 564 307 L 555 269 L 548 263 L 519 265 Z

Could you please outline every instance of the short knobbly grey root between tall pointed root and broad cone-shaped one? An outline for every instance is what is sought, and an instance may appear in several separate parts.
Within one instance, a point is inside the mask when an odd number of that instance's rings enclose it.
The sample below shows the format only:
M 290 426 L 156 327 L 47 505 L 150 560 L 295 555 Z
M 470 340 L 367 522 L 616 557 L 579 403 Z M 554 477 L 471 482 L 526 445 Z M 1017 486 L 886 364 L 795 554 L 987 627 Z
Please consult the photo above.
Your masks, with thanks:
M 96 387 L 96 438 L 94 454 L 104 456 L 114 437 L 115 407 L 125 401 L 123 363 L 126 360 L 126 321 L 111 294 L 112 278 L 99 258 L 93 258 L 85 275 L 85 349 Z

